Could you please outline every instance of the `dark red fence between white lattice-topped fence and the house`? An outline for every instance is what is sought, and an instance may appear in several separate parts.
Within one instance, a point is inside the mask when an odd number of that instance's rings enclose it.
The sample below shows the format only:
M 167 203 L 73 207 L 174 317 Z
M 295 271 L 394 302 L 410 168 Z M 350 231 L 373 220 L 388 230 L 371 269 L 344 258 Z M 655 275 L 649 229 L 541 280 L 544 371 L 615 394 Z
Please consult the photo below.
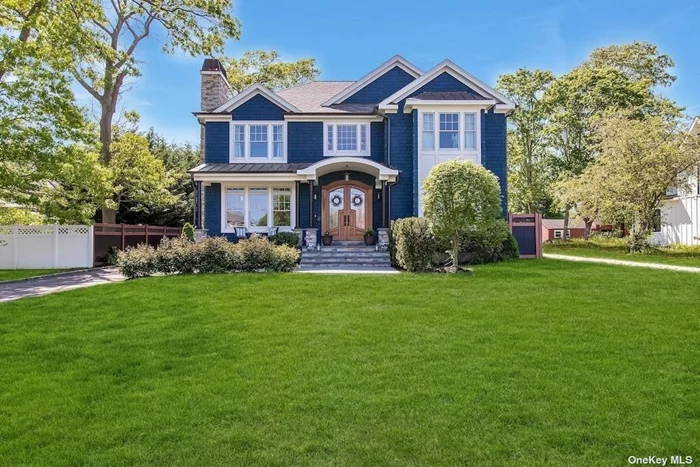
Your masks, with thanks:
M 160 225 L 95 224 L 94 259 L 95 265 L 104 264 L 112 248 L 124 250 L 139 243 L 158 246 L 163 237 L 179 237 L 180 227 Z

